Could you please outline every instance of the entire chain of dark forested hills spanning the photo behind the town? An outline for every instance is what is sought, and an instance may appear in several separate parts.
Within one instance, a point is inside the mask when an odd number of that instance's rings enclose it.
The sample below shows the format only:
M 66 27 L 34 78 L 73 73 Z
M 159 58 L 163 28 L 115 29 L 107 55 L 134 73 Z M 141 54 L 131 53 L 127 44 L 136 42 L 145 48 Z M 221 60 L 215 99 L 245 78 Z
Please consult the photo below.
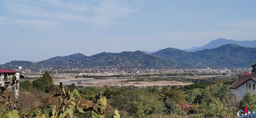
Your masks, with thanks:
M 92 56 L 73 54 L 58 56 L 38 63 L 29 61 L 11 61 L 0 65 L 0 68 L 17 69 L 88 69 L 88 68 L 118 68 L 118 69 L 182 69 L 182 68 L 250 68 L 256 63 L 256 48 L 242 47 L 236 44 L 226 44 L 215 49 L 204 49 L 197 52 L 185 52 L 180 49 L 166 48 L 148 55 L 145 52 L 102 52 Z

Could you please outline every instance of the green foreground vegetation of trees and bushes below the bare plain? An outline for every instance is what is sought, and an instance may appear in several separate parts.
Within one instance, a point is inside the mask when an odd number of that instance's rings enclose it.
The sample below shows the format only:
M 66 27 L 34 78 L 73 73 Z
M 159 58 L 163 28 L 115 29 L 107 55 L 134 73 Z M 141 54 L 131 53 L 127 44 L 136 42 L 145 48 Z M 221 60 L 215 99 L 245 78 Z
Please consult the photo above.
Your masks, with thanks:
M 83 87 L 53 85 L 45 72 L 33 82 L 20 82 L 18 99 L 13 92 L 2 95 L 0 118 L 236 118 L 245 105 L 256 109 L 255 94 L 240 102 L 230 94 L 228 87 L 236 79 L 205 78 L 186 86 Z

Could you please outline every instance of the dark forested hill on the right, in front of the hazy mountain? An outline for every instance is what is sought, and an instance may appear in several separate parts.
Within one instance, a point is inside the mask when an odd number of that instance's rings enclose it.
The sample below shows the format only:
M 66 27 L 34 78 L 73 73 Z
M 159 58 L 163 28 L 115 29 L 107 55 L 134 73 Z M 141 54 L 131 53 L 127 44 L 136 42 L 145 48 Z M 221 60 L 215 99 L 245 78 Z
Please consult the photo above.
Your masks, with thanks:
M 226 44 L 215 49 L 185 52 L 178 49 L 163 49 L 155 55 L 165 60 L 175 60 L 177 67 L 185 68 L 233 68 L 248 67 L 256 63 L 256 48 Z

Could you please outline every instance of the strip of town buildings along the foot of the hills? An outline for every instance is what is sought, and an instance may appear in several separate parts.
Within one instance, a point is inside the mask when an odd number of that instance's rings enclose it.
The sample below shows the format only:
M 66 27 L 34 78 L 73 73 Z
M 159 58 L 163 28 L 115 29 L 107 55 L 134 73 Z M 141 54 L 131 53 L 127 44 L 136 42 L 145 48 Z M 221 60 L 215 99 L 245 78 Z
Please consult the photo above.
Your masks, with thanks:
M 234 68 L 234 69 L 79 69 L 79 68 L 66 68 L 66 69 L 52 69 L 52 68 L 41 68 L 41 69 L 24 69 L 22 66 L 17 66 L 16 71 L 20 71 L 23 75 L 33 76 L 42 75 L 45 71 L 50 72 L 50 74 L 58 73 L 120 73 L 122 75 L 133 75 L 133 73 L 201 73 L 201 74 L 234 74 L 242 72 L 250 72 L 251 68 Z

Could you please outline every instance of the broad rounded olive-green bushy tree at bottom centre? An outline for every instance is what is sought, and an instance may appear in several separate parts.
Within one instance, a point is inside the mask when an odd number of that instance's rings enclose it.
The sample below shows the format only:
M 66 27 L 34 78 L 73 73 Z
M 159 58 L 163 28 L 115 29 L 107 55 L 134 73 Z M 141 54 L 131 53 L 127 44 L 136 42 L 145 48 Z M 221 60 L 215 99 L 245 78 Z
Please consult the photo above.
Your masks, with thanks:
M 111 105 L 120 111 L 129 112 L 134 118 L 145 118 L 147 115 L 162 113 L 164 104 L 160 96 L 144 89 L 116 92 L 111 98 Z

